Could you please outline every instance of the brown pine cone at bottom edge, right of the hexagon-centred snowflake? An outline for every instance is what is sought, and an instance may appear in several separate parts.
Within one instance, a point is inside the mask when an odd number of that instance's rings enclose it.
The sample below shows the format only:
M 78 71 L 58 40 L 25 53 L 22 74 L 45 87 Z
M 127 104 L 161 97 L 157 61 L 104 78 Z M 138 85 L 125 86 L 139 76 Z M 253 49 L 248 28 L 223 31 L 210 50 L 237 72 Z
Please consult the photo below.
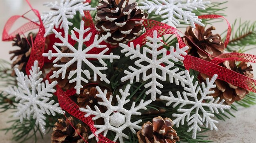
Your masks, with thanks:
M 176 131 L 172 128 L 173 121 L 169 118 L 155 117 L 153 124 L 148 121 L 137 132 L 139 143 L 175 143 L 180 141 Z

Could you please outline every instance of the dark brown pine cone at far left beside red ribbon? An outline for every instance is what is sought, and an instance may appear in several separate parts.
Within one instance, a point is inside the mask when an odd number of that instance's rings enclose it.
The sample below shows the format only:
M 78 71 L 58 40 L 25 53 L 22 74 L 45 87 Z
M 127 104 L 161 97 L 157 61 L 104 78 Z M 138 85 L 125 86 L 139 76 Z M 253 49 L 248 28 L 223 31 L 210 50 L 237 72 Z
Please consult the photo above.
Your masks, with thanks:
M 27 61 L 29 61 L 29 56 L 31 53 L 32 40 L 34 41 L 35 39 L 36 34 L 33 33 L 29 33 L 27 38 L 21 38 L 19 34 L 16 35 L 16 37 L 13 39 L 14 43 L 12 45 L 20 47 L 20 50 L 9 51 L 9 54 L 13 54 L 13 56 L 10 58 L 11 60 L 17 56 L 16 60 L 14 60 L 11 64 L 12 68 L 15 65 L 18 65 L 18 69 L 25 72 Z M 15 76 L 14 70 L 11 76 Z

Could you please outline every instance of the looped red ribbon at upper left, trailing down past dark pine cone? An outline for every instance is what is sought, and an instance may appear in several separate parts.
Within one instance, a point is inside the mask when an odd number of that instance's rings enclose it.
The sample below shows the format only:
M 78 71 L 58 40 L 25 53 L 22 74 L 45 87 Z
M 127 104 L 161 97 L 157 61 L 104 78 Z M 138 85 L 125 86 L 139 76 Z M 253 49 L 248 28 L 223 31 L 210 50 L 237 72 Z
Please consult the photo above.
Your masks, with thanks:
M 14 15 L 11 18 L 9 18 L 9 20 L 6 22 L 6 24 L 4 26 L 4 30 L 2 33 L 2 40 L 3 41 L 11 41 L 11 40 L 13 40 L 14 37 L 16 37 L 17 34 L 21 35 L 29 30 L 39 28 L 38 33 L 36 35 L 36 39 L 32 43 L 31 54 L 29 57 L 29 61 L 27 62 L 27 65 L 26 65 L 26 72 L 29 75 L 29 70 L 31 69 L 31 66 L 34 65 L 34 61 L 37 60 L 39 63 L 39 67 L 43 67 L 44 58 L 43 58 L 42 54 L 45 49 L 45 37 L 43 37 L 43 35 L 45 34 L 45 28 L 43 26 L 43 22 L 41 20 L 38 10 L 33 9 L 31 4 L 29 3 L 29 0 L 26 0 L 26 1 L 30 6 L 31 11 L 33 11 L 35 13 L 36 17 L 38 17 L 39 24 L 36 22 L 33 22 L 29 18 L 25 17 L 26 13 L 24 15 Z M 14 30 L 14 32 L 10 33 L 10 30 L 11 30 L 13 24 L 21 17 L 28 20 L 29 22 L 20 26 L 18 29 Z

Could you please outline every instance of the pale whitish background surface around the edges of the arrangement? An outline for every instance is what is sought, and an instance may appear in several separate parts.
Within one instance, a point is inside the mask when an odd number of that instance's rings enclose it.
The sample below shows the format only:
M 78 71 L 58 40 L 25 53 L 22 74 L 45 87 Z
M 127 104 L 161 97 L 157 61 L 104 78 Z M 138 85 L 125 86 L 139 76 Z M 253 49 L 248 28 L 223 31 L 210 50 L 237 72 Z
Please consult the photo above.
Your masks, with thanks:
M 46 0 L 30 0 L 35 9 L 40 12 L 43 11 L 43 2 Z M 47 0 L 54 1 L 54 0 Z M 223 2 L 223 0 L 211 0 L 212 2 Z M 242 18 L 243 21 L 250 20 L 256 21 L 256 0 L 229 0 L 225 4 L 227 19 L 230 23 L 233 23 L 236 18 Z M 4 27 L 5 22 L 12 15 L 23 14 L 29 10 L 25 0 L 0 0 L 0 33 Z M 221 33 L 225 30 L 226 24 L 220 23 L 214 25 L 217 32 Z M 2 39 L 2 35 L 0 35 Z M 256 45 L 255 45 L 256 47 Z M 10 42 L 0 41 L 0 58 L 9 60 L 9 50 L 12 50 Z M 14 48 L 15 49 L 15 48 Z M 250 54 L 256 54 L 256 50 L 248 51 Z M 256 75 L 256 64 L 254 66 L 254 75 Z M 256 106 L 250 108 L 240 108 L 238 112 L 233 112 L 236 118 L 231 117 L 227 121 L 220 121 L 217 124 L 218 131 L 210 131 L 205 134 L 209 136 L 209 140 L 216 143 L 256 143 Z M 0 128 L 6 128 L 10 126 L 6 122 L 11 116 L 11 112 L 0 113 Z M 4 134 L 0 131 L 0 143 L 15 143 L 11 141 L 12 133 Z M 31 143 L 32 141 L 27 141 Z M 38 143 L 50 142 L 49 134 L 45 136 L 45 140 L 38 139 Z

